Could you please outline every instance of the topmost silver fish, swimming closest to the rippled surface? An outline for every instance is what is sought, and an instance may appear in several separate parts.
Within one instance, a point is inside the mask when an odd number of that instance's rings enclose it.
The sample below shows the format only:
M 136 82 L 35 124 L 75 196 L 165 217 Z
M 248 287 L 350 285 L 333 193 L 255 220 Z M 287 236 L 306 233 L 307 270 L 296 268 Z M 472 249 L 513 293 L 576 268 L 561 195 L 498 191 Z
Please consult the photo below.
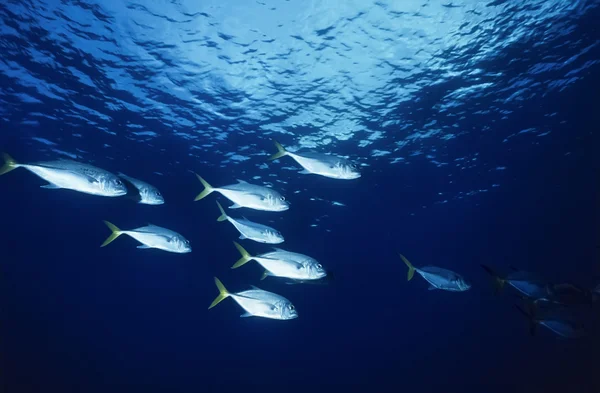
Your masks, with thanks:
M 343 157 L 312 151 L 292 153 L 287 151 L 279 142 L 275 140 L 273 142 L 277 147 L 277 153 L 269 157 L 269 160 L 277 160 L 284 156 L 292 157 L 304 168 L 299 173 L 342 180 L 358 179 L 361 176 L 356 165 Z

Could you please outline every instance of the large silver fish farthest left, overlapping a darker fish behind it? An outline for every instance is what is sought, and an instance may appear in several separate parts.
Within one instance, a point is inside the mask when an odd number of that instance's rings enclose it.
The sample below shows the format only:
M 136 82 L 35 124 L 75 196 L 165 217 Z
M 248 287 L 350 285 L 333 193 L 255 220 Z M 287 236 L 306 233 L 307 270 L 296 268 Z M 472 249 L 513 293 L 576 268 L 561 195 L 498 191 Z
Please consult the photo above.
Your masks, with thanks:
M 119 197 L 127 194 L 125 184 L 117 175 L 89 164 L 63 159 L 20 164 L 6 153 L 3 153 L 2 156 L 5 164 L 0 168 L 0 175 L 17 168 L 25 168 L 48 182 L 48 184 L 40 186 L 41 188 L 51 190 L 64 188 L 105 197 Z

